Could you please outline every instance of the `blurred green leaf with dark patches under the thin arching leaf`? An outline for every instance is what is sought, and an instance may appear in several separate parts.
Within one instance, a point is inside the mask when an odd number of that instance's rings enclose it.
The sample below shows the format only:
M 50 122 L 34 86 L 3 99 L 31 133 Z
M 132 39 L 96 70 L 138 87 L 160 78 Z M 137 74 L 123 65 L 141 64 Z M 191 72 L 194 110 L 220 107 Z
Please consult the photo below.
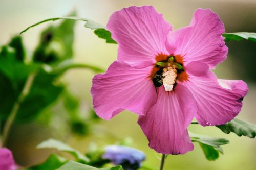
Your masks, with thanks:
M 76 12 L 70 15 L 76 15 Z M 68 19 L 42 31 L 39 44 L 33 54 L 33 61 L 55 63 L 72 58 L 74 25 L 75 21 Z

